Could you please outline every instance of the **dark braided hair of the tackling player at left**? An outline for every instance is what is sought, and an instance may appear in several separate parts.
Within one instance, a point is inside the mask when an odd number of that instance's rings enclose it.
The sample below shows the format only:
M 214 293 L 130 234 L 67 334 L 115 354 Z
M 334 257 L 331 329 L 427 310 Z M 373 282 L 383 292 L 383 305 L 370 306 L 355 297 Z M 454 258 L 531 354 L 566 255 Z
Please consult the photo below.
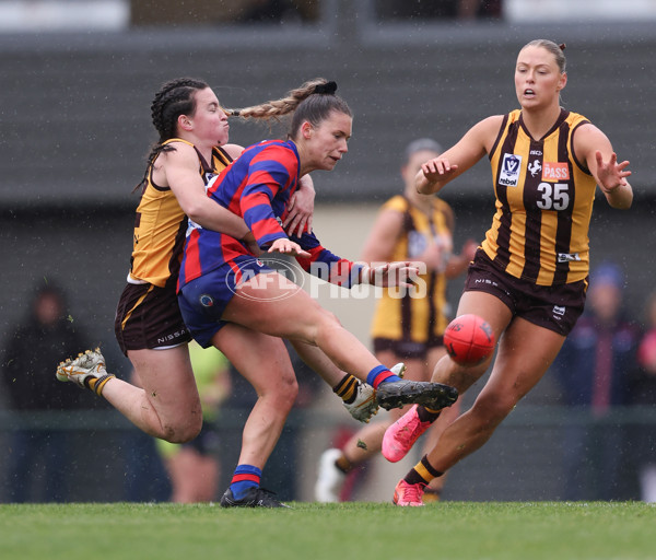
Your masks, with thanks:
M 149 170 L 153 162 L 162 152 L 175 150 L 171 145 L 163 145 L 166 140 L 176 138 L 176 125 L 180 115 L 194 115 L 196 112 L 195 93 L 199 90 L 206 90 L 209 85 L 192 78 L 178 78 L 166 82 L 155 94 L 151 104 L 151 118 L 153 126 L 160 135 L 160 140 L 151 148 L 148 156 L 148 165 L 141 182 L 134 187 L 134 190 L 145 185 L 148 182 Z

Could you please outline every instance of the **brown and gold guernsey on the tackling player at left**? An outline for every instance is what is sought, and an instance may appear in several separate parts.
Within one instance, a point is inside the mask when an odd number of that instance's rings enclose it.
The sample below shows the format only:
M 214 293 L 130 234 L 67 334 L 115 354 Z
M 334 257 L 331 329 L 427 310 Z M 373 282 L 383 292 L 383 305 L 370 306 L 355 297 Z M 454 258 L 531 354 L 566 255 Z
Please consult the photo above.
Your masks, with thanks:
M 174 138 L 164 142 L 190 142 Z M 195 147 L 194 147 L 195 148 Z M 196 149 L 196 148 L 195 148 Z M 212 150 L 209 165 L 198 153 L 198 172 L 207 185 L 210 178 L 221 173 L 232 161 L 221 148 Z M 141 194 L 134 221 L 132 258 L 128 280 L 133 283 L 150 282 L 163 288 L 174 277 L 177 280 L 187 230 L 187 217 L 169 187 L 160 187 L 153 182 L 153 165 L 148 171 L 148 180 Z

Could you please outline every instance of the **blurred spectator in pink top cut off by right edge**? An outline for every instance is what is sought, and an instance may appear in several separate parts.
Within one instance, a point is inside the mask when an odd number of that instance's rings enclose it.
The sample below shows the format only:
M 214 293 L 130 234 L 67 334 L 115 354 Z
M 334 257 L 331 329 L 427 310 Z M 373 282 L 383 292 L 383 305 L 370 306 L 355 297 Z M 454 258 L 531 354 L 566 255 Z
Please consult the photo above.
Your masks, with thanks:
M 645 409 L 656 405 L 656 292 L 648 299 L 646 314 L 647 330 L 637 348 L 640 368 L 631 386 L 631 404 Z M 641 423 L 631 435 L 641 499 L 656 502 L 656 427 Z

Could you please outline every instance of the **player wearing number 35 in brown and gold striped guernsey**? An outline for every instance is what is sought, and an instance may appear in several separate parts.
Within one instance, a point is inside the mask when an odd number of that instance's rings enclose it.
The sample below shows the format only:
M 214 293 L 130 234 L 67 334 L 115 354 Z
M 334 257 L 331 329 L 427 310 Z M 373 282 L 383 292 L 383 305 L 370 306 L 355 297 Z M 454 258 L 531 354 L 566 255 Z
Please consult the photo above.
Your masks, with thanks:
M 631 207 L 629 162 L 618 163 L 601 130 L 560 106 L 567 83 L 563 50 L 544 39 L 522 48 L 515 66 L 520 109 L 481 120 L 417 175 L 420 192 L 437 192 L 483 155 L 490 159 L 496 211 L 469 267 L 458 315 L 483 317 L 499 347 L 471 409 L 397 485 L 398 505 L 421 505 L 426 483 L 483 445 L 557 357 L 585 303 L 596 186 L 612 208 Z M 491 360 L 464 368 L 447 355 L 433 381 L 461 394 Z M 383 454 L 399 460 L 438 412 L 419 407 L 403 415 L 387 430 Z

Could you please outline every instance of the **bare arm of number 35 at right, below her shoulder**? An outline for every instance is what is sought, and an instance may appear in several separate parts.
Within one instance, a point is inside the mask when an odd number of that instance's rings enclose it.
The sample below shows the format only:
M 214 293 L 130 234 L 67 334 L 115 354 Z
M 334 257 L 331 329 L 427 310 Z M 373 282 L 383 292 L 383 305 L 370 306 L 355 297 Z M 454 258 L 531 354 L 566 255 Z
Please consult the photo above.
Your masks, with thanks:
M 574 151 L 586 162 L 597 185 L 612 208 L 625 210 L 633 202 L 633 189 L 626 180 L 631 172 L 628 161 L 618 163 L 610 140 L 594 125 L 584 125 L 574 132 Z

